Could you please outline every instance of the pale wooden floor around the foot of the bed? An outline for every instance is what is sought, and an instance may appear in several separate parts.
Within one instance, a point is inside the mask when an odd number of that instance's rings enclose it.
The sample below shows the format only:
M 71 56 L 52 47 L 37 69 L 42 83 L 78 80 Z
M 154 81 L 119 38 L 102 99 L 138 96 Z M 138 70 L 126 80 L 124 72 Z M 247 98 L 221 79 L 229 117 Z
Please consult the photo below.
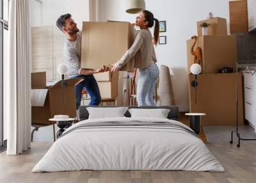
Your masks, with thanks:
M 194 171 L 69 171 L 31 173 L 52 143 L 32 143 L 31 150 L 19 156 L 0 154 L 0 182 L 256 182 L 256 143 L 243 142 L 241 148 L 228 142 L 207 143 L 225 172 Z

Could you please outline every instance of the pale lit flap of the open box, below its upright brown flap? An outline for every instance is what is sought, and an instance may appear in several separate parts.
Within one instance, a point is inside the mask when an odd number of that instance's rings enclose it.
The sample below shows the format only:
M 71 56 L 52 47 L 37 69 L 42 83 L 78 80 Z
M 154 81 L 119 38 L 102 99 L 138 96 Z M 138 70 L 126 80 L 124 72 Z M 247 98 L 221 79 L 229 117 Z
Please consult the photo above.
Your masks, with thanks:
M 31 90 L 31 106 L 44 107 L 48 89 Z

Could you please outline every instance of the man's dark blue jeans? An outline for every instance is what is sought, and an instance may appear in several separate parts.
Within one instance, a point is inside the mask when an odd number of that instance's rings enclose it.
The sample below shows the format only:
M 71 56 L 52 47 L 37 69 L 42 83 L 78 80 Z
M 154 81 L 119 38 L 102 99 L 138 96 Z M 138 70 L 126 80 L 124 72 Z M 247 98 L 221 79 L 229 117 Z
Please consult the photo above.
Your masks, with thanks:
M 81 98 L 82 98 L 82 90 L 85 88 L 86 92 L 90 95 L 91 101 L 89 106 L 98 106 L 101 102 L 100 97 L 100 90 L 96 79 L 93 75 L 80 75 L 71 77 L 75 79 L 77 77 L 83 78 L 83 81 L 80 81 L 76 84 L 76 109 L 78 109 L 81 105 Z

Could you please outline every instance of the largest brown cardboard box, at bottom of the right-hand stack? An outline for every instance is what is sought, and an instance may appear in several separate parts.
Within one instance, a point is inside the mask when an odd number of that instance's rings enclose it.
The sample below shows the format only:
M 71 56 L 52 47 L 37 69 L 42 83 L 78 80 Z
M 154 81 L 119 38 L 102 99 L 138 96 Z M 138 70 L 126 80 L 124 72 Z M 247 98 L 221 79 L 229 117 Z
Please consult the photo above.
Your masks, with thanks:
M 243 125 L 242 75 L 237 76 L 238 123 Z M 205 113 L 203 125 L 236 125 L 236 73 L 199 74 L 196 104 L 195 88 L 191 86 L 194 79 L 189 74 L 189 111 Z

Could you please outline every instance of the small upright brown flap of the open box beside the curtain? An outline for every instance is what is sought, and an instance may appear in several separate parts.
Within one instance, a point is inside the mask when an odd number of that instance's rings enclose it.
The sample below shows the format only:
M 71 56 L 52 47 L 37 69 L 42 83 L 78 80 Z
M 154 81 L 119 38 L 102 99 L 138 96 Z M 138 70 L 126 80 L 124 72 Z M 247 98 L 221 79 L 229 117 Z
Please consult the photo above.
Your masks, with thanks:
M 31 73 L 31 88 L 46 88 L 46 72 Z

